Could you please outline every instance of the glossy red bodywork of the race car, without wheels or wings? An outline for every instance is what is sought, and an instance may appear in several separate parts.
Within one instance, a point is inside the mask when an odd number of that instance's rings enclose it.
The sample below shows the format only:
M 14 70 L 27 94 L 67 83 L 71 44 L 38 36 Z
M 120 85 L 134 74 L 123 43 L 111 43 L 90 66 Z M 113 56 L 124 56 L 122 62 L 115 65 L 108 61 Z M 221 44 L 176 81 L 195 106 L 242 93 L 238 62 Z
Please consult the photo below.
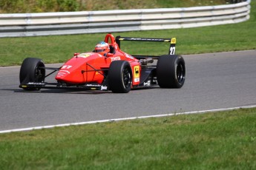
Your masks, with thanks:
M 106 57 L 96 52 L 75 53 L 73 58 L 67 61 L 56 75 L 56 80 L 68 84 L 102 84 L 104 70 L 110 67 L 112 61 L 125 60 L 131 65 L 133 81 L 132 85 L 140 84 L 140 63 L 137 58 L 128 55 L 119 49 L 114 35 L 107 34 L 105 42 L 114 48 L 114 53 L 108 53 Z

